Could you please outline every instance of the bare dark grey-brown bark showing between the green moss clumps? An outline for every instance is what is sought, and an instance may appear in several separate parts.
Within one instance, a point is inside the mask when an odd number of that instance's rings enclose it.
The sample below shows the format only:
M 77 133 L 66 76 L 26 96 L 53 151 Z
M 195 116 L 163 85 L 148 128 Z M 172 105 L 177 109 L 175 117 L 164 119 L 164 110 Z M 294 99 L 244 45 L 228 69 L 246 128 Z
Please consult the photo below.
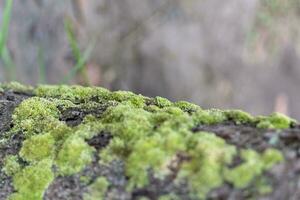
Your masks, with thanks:
M 0 92 L 0 139 L 6 138 L 5 133 L 13 127 L 12 113 L 14 108 L 24 99 L 32 94 L 16 93 L 13 91 Z M 70 108 L 61 110 L 60 120 L 65 121 L 69 126 L 79 125 L 87 114 L 101 117 L 105 107 L 99 105 L 98 109 L 84 110 L 80 108 Z M 238 149 L 250 148 L 262 152 L 267 148 L 279 149 L 285 156 L 283 164 L 274 166 L 265 173 L 267 181 L 272 185 L 273 192 L 265 197 L 256 197 L 261 200 L 282 200 L 300 199 L 300 126 L 295 126 L 285 130 L 264 130 L 257 129 L 253 125 L 238 125 L 232 121 L 227 121 L 217 125 L 199 125 L 193 128 L 194 134 L 201 134 L 201 131 L 212 132 L 226 140 L 227 143 L 235 145 Z M 158 199 L 159 196 L 175 193 L 181 199 L 189 199 L 189 188 L 186 182 L 180 183 L 180 187 L 174 184 L 181 162 L 186 158 L 178 154 L 177 163 L 174 164 L 172 174 L 165 179 L 155 178 L 149 171 L 150 183 L 144 188 L 134 189 L 132 192 L 126 191 L 128 178 L 125 175 L 124 162 L 113 161 L 109 166 L 99 164 L 98 152 L 107 146 L 112 139 L 109 132 L 100 132 L 87 143 L 97 150 L 93 162 L 82 172 L 65 177 L 57 177 L 48 187 L 44 194 L 44 200 L 82 200 L 83 194 L 88 192 L 88 186 L 97 177 L 105 176 L 110 183 L 106 192 L 107 199 Z M 16 154 L 22 145 L 24 137 L 20 133 L 14 133 L 5 145 L 0 143 L 0 166 L 3 166 L 3 159 L 6 155 Z M 243 162 L 239 156 L 234 158 L 234 162 L 229 167 L 234 167 Z M 24 162 L 24 165 L 26 163 Z M 55 171 L 55 169 L 53 169 Z M 83 182 L 80 177 L 87 177 Z M 253 182 L 253 184 L 255 184 Z M 229 183 L 224 183 L 221 187 L 212 190 L 207 199 L 250 199 L 257 191 L 250 184 L 244 189 L 235 189 Z M 0 170 L 0 199 L 6 199 L 14 191 L 12 180 Z

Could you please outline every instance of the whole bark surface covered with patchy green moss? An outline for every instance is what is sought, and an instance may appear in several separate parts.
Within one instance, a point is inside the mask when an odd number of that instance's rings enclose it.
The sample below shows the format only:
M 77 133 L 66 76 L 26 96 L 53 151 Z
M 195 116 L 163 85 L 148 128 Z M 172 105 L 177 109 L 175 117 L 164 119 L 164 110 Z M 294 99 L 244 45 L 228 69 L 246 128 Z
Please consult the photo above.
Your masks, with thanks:
M 298 199 L 300 126 L 81 86 L 0 89 L 0 199 Z

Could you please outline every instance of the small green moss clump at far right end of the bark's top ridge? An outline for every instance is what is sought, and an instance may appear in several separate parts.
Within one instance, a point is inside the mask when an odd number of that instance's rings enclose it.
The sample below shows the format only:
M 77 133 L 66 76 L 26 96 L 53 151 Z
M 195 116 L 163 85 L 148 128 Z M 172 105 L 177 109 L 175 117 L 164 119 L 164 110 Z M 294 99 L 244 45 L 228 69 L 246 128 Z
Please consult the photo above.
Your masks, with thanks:
M 257 128 L 265 129 L 284 129 L 290 128 L 296 120 L 291 119 L 281 113 L 273 113 L 268 117 L 260 116 L 256 118 Z

